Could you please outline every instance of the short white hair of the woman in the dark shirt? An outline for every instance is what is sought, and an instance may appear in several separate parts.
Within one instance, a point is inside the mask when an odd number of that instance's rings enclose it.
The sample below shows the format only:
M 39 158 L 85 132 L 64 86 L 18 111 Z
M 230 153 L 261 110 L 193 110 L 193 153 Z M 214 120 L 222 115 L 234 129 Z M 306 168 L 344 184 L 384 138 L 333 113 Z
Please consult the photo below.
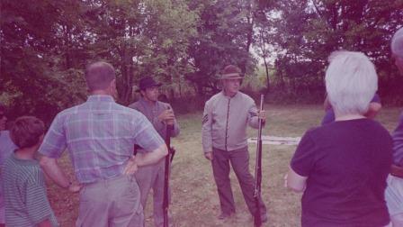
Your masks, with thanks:
M 378 77 L 362 52 L 335 51 L 329 56 L 326 90 L 336 114 L 365 114 L 378 89 Z

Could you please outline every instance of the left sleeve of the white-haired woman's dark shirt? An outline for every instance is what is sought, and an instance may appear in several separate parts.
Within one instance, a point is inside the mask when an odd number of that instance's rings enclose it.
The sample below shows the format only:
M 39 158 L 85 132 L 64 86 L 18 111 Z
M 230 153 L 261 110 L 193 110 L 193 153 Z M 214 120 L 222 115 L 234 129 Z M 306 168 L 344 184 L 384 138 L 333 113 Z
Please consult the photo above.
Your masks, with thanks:
M 291 168 L 302 177 L 309 177 L 315 165 L 315 143 L 306 132 L 291 159 Z

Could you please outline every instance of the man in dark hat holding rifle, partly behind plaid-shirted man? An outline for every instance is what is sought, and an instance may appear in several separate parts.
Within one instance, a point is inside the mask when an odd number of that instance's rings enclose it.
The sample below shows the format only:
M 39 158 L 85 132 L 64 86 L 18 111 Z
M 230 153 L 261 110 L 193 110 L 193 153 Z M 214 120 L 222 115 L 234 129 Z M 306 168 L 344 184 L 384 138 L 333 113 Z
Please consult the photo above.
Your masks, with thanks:
M 162 138 L 166 138 L 166 127 L 173 127 L 171 136 L 175 137 L 179 134 L 179 125 L 175 120 L 175 114 L 170 104 L 158 101 L 161 86 L 152 77 L 143 77 L 139 81 L 139 90 L 141 98 L 138 102 L 130 104 L 129 107 L 144 114 L 148 121 L 153 124 Z M 139 149 L 139 152 L 145 152 Z M 148 193 L 153 188 L 154 201 L 154 223 L 155 226 L 163 226 L 164 224 L 164 175 L 165 162 L 163 160 L 148 167 L 139 168 L 136 172 L 136 179 L 139 183 L 141 204 L 146 208 Z

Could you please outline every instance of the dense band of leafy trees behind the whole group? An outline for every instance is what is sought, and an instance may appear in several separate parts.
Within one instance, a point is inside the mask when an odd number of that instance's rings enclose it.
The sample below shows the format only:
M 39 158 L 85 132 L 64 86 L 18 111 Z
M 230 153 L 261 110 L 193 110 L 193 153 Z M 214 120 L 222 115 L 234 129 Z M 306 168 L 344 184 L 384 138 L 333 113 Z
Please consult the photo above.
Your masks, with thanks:
M 228 64 L 249 95 L 318 104 L 327 56 L 355 50 L 375 64 L 382 103 L 403 104 L 390 58 L 402 9 L 403 0 L 2 0 L 0 102 L 49 123 L 85 101 L 85 66 L 103 59 L 117 70 L 120 104 L 152 76 L 178 112 L 198 110 Z

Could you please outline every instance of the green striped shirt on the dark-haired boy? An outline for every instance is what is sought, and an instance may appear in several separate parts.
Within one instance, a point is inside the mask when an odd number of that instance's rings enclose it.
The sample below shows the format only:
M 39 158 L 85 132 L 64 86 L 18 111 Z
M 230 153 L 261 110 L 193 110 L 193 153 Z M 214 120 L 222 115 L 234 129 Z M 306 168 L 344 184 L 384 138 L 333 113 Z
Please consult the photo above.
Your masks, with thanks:
M 37 160 L 17 159 L 12 154 L 2 171 L 6 226 L 37 226 L 46 220 L 58 226 Z

